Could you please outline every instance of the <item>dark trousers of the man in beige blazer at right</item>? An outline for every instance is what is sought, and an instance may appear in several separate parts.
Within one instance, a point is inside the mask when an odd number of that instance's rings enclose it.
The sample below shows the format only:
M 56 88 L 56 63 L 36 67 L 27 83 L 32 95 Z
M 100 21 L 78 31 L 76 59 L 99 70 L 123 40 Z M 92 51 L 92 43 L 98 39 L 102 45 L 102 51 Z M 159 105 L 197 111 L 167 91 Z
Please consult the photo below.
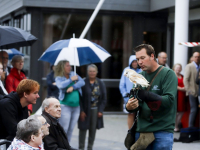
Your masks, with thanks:
M 190 101 L 189 127 L 193 127 L 198 111 L 198 97 L 189 95 L 189 101 Z

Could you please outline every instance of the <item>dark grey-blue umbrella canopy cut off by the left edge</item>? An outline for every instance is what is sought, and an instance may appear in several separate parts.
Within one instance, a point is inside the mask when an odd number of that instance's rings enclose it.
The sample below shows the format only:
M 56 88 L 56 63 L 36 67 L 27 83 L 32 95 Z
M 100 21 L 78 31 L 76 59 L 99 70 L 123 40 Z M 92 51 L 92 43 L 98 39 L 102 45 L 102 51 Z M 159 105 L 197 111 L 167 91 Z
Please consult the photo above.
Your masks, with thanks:
M 0 26 L 0 49 L 30 46 L 37 38 L 32 34 L 10 26 Z

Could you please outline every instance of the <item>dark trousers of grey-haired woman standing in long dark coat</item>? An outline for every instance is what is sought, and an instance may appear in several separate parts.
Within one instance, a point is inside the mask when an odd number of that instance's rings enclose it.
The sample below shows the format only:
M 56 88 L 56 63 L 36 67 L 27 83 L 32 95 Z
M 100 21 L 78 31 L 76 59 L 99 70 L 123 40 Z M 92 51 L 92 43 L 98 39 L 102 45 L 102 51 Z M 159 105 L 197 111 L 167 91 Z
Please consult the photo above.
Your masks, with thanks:
M 88 150 L 92 150 L 94 139 L 96 135 L 97 126 L 97 108 L 90 109 L 90 128 L 89 128 L 89 138 L 88 138 Z M 84 150 L 85 148 L 85 137 L 87 130 L 79 130 L 79 149 Z

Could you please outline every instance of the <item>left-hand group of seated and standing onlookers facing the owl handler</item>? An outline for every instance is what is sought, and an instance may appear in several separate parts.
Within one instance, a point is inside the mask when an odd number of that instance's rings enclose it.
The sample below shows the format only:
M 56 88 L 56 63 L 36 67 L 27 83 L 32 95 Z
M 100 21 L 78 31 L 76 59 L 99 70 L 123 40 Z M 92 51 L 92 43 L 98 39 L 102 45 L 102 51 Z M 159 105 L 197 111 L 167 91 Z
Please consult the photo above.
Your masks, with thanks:
M 88 66 L 85 79 L 71 71 L 67 60 L 51 66 L 42 114 L 31 115 L 32 104 L 40 97 L 40 84 L 26 78 L 22 56 L 14 56 L 9 69 L 8 54 L 0 52 L 0 58 L 0 141 L 12 141 L 6 145 L 8 150 L 76 150 L 70 146 L 76 123 L 80 129 L 79 149 L 85 148 L 89 130 L 87 149 L 92 150 L 96 129 L 104 127 L 107 101 L 105 85 L 97 78 L 97 66 Z

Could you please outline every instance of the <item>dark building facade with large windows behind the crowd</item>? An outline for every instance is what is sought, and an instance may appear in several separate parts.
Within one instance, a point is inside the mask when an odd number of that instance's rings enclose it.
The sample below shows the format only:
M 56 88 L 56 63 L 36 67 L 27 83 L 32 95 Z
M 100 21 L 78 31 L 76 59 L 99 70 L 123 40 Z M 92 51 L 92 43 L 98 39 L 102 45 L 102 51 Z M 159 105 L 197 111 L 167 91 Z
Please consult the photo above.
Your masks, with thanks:
M 188 0 L 189 1 L 189 0 Z M 18 48 L 25 54 L 24 69 L 31 79 L 41 84 L 40 106 L 46 96 L 45 77 L 50 64 L 38 61 L 42 53 L 54 42 L 79 37 L 87 24 L 98 0 L 0 0 L 0 24 L 19 27 L 31 32 L 38 40 L 31 47 Z M 189 41 L 200 39 L 200 2 L 190 1 Z M 133 48 L 151 44 L 158 54 L 168 53 L 168 64 L 174 62 L 175 0 L 115 0 L 105 1 L 92 23 L 86 39 L 104 47 L 112 57 L 97 64 L 98 77 L 107 86 L 107 111 L 121 111 L 122 99 L 119 79 Z M 180 41 L 182 42 L 182 41 Z M 187 42 L 187 41 L 185 41 Z M 199 48 L 190 48 L 187 57 Z M 188 60 L 183 60 L 187 62 Z M 80 76 L 86 76 L 86 66 L 77 67 Z

